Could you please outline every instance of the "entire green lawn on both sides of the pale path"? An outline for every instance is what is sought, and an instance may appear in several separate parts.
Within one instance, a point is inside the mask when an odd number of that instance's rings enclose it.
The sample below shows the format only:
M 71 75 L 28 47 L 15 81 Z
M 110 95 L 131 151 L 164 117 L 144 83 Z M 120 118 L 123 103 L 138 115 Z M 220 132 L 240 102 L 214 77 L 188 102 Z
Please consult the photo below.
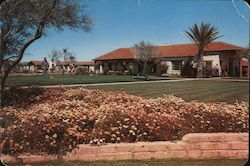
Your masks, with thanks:
M 154 80 L 170 79 L 166 77 L 150 77 L 152 82 L 146 84 L 127 85 L 102 85 L 88 88 L 100 88 L 104 90 L 124 90 L 129 94 L 144 97 L 159 97 L 163 94 L 172 94 L 187 101 L 212 101 L 232 103 L 235 100 L 248 101 L 249 82 L 225 80 L 195 80 L 182 82 L 153 82 Z M 143 77 L 133 76 L 54 76 L 45 78 L 35 76 L 10 76 L 7 83 L 17 81 L 20 85 L 60 85 L 60 84 L 93 84 L 111 82 L 144 81 Z

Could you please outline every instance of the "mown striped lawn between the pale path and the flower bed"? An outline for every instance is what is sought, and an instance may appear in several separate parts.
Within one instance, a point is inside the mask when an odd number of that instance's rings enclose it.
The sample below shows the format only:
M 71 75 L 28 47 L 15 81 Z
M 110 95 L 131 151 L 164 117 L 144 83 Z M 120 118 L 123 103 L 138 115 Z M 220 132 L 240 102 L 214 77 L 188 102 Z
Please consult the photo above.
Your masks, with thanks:
M 152 82 L 148 84 L 91 86 L 91 89 L 123 90 L 129 94 L 144 97 L 160 97 L 171 94 L 184 100 L 206 102 L 248 101 L 249 82 L 229 80 L 195 80 L 182 82 Z

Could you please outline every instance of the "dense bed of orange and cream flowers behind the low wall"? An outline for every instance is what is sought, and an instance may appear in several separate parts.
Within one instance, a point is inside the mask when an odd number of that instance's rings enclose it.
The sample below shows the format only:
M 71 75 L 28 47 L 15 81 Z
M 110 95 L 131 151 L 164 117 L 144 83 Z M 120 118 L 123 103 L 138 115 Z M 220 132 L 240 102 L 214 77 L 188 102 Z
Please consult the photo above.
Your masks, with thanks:
M 178 140 L 190 132 L 247 132 L 248 103 L 144 98 L 123 91 L 16 90 L 0 112 L 3 153 L 63 155 L 78 144 Z M 8 101 L 13 101 L 11 92 Z

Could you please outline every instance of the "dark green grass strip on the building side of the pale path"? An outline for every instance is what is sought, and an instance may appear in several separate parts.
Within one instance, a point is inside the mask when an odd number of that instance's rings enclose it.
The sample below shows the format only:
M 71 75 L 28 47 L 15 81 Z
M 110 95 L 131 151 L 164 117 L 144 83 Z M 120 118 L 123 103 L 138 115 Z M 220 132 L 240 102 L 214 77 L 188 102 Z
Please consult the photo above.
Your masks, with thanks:
M 169 79 L 167 77 L 150 76 L 150 80 Z M 80 76 L 80 75 L 55 75 L 52 78 L 46 78 L 42 75 L 27 76 L 9 76 L 7 84 L 17 82 L 19 85 L 69 85 L 69 84 L 93 84 L 93 83 L 110 83 L 110 82 L 134 82 L 144 81 L 143 77 L 135 76 Z

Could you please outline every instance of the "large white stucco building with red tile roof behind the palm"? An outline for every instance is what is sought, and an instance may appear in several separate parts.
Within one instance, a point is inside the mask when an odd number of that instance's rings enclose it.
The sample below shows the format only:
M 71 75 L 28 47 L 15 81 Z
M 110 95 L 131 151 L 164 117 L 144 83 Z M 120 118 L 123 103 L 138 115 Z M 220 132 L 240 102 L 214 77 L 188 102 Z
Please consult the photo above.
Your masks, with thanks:
M 162 74 L 161 66 L 165 64 L 168 67 L 166 74 L 180 75 L 186 61 L 194 59 L 197 56 L 198 48 L 195 44 L 175 44 L 155 46 L 160 63 L 150 65 L 152 74 Z M 207 76 L 240 76 L 240 59 L 242 47 L 225 43 L 213 42 L 206 48 L 203 56 L 204 70 Z M 134 57 L 132 48 L 119 48 L 106 53 L 95 59 L 96 67 L 99 73 L 114 73 L 120 70 L 129 70 L 132 65 L 134 75 L 142 72 L 142 66 Z M 195 66 L 195 62 L 192 62 Z M 119 68 L 119 69 L 118 69 Z M 103 71 L 103 72 L 101 72 Z M 112 71 L 112 72 L 110 72 Z

